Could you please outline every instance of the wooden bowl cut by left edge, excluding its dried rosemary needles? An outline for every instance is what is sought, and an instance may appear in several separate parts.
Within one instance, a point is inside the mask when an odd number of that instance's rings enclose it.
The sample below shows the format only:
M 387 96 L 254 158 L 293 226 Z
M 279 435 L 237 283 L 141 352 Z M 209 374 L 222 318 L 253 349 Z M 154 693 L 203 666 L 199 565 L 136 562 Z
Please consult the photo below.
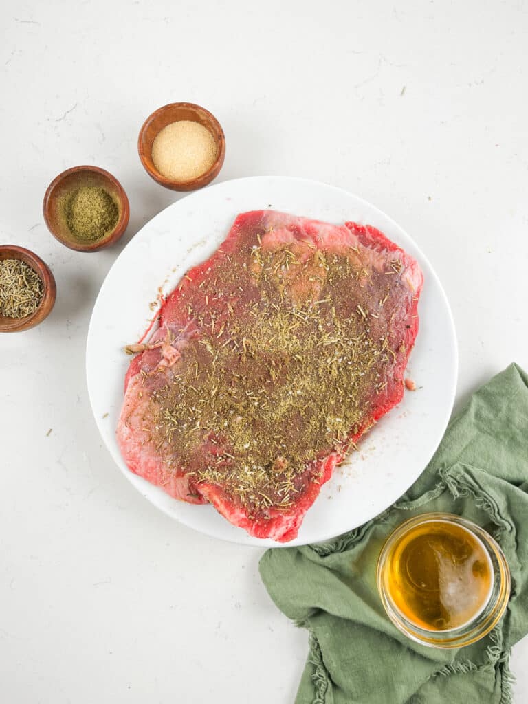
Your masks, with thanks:
M 42 279 L 44 285 L 44 295 L 40 306 L 31 315 L 26 315 L 25 318 L 6 318 L 5 315 L 0 315 L 0 332 L 21 332 L 29 330 L 30 327 L 39 325 L 40 322 L 47 318 L 54 307 L 57 294 L 54 275 L 51 269 L 45 264 L 40 257 L 37 257 L 29 249 L 18 247 L 14 244 L 0 245 L 0 260 L 1 259 L 20 259 L 34 269 Z

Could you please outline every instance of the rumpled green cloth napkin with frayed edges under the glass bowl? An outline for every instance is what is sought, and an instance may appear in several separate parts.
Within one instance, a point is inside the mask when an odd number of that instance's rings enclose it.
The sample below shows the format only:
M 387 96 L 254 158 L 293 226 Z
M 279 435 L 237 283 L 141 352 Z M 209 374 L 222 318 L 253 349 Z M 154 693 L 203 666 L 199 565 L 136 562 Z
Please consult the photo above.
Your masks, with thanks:
M 379 601 L 382 543 L 403 520 L 429 511 L 478 523 L 498 540 L 510 565 L 505 616 L 466 648 L 414 643 L 391 624 Z M 260 560 L 260 574 L 279 609 L 310 632 L 296 704 L 513 701 L 510 648 L 528 631 L 526 373 L 511 365 L 482 386 L 451 420 L 417 482 L 382 515 L 328 543 L 273 548 Z

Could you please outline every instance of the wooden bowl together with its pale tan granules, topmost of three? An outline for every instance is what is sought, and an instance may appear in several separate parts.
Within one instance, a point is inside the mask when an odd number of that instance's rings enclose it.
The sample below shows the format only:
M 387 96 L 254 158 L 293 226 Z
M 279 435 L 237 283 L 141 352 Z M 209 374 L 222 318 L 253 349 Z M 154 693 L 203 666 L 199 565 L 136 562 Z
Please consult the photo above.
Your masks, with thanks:
M 170 103 L 146 118 L 137 150 L 153 180 L 172 191 L 195 191 L 218 176 L 225 158 L 225 136 L 206 108 Z

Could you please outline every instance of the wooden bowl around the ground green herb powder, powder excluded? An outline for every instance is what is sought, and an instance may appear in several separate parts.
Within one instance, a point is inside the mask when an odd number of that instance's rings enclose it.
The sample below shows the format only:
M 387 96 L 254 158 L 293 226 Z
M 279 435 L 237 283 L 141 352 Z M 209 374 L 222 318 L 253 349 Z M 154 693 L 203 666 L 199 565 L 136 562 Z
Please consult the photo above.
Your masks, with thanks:
M 95 241 L 78 239 L 66 225 L 64 209 L 68 194 L 84 186 L 106 189 L 118 204 L 119 219 L 114 229 Z M 98 166 L 74 166 L 59 174 L 46 190 L 42 210 L 49 232 L 65 246 L 79 252 L 95 252 L 115 244 L 125 233 L 130 217 L 130 206 L 122 185 L 111 173 Z

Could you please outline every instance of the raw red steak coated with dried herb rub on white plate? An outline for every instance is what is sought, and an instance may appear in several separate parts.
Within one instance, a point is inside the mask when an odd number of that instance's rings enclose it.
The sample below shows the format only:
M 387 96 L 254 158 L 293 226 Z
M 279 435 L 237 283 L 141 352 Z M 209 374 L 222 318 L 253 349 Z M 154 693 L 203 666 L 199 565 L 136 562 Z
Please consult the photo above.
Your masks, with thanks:
M 125 379 L 132 472 L 294 539 L 321 485 L 401 401 L 422 272 L 374 227 L 239 215 L 191 269 Z

